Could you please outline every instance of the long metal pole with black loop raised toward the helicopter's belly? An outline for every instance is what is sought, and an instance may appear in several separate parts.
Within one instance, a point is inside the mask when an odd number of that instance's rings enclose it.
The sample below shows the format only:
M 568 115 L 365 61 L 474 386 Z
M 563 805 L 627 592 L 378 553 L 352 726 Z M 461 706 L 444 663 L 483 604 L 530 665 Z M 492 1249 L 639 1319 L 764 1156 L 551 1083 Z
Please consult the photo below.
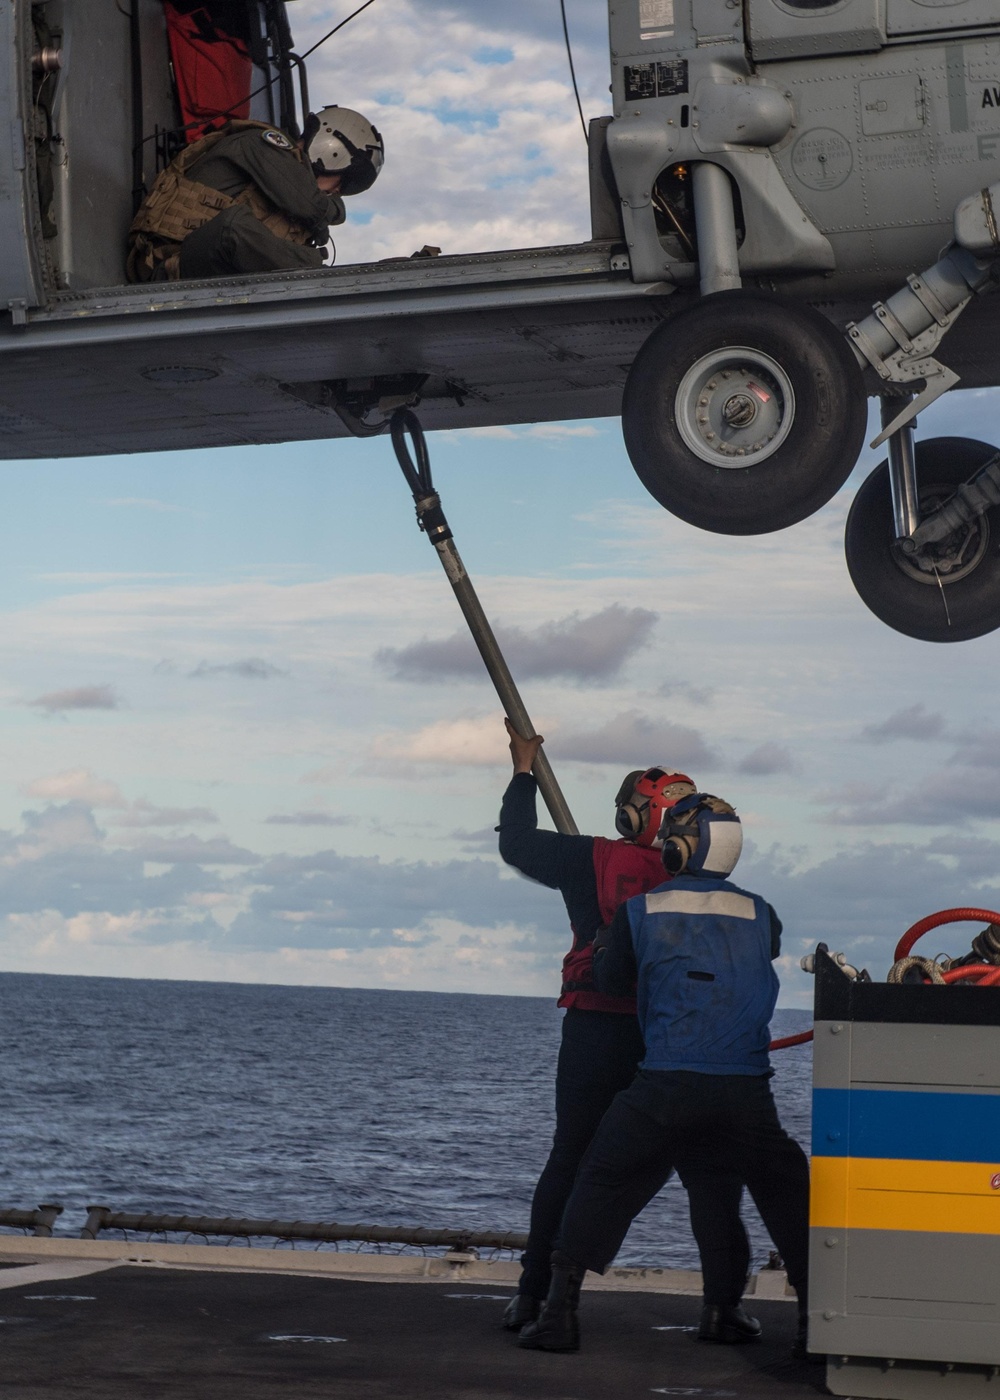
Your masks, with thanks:
M 479 655 L 486 664 L 490 680 L 493 682 L 496 693 L 500 697 L 500 704 L 504 707 L 510 722 L 514 725 L 521 738 L 531 739 L 535 735 L 535 727 L 528 717 L 524 701 L 521 700 L 518 689 L 514 685 L 514 678 L 507 668 L 503 652 L 500 651 L 497 640 L 493 636 L 493 629 L 490 627 L 489 619 L 486 617 L 482 603 L 476 596 L 472 580 L 465 571 L 465 566 L 462 564 L 461 554 L 455 547 L 451 529 L 444 518 L 441 497 L 434 490 L 430 476 L 427 441 L 423 435 L 423 428 L 420 427 L 417 416 L 409 409 L 396 409 L 392 414 L 391 433 L 396 459 L 399 461 L 403 476 L 406 477 L 406 484 L 413 493 L 417 525 L 437 550 L 437 557 L 441 560 L 441 567 L 448 575 L 448 582 L 451 584 L 455 598 L 458 599 L 458 606 L 462 609 L 465 620 L 469 624 L 472 640 L 476 647 L 479 647 Z M 416 463 L 413 462 L 406 445 L 408 433 L 413 442 Z M 573 813 L 570 812 L 569 804 L 563 797 L 563 791 L 556 781 L 556 776 L 552 771 L 549 760 L 541 749 L 535 757 L 531 771 L 535 774 L 538 790 L 549 809 L 549 815 L 552 816 L 556 830 L 562 832 L 564 836 L 578 836 L 580 829 L 573 820 Z

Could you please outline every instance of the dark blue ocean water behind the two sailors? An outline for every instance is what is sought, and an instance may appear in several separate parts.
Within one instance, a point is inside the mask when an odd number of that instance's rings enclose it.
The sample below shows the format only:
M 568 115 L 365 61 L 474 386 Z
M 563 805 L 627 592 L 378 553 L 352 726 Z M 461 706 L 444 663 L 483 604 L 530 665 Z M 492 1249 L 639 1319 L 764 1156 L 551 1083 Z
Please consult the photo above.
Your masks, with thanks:
M 0 974 L 0 1207 L 59 1201 L 57 1232 L 90 1204 L 525 1229 L 560 1016 L 534 997 Z M 811 1047 L 775 1064 L 807 1147 Z M 675 1182 L 619 1261 L 697 1267 Z

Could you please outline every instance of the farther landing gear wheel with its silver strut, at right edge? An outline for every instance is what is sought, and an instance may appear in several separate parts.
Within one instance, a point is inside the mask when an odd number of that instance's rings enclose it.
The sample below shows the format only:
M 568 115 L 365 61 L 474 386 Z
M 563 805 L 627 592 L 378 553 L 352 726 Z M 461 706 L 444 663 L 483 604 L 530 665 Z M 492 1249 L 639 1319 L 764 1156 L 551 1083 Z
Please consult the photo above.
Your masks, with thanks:
M 910 536 L 957 500 L 957 489 L 997 449 L 973 438 L 929 438 L 913 447 L 906 433 L 889 440 L 889 462 L 868 476 L 847 515 L 852 581 L 871 612 L 906 637 L 982 637 L 1000 627 L 1000 505 L 966 511 L 944 538 L 919 549 Z

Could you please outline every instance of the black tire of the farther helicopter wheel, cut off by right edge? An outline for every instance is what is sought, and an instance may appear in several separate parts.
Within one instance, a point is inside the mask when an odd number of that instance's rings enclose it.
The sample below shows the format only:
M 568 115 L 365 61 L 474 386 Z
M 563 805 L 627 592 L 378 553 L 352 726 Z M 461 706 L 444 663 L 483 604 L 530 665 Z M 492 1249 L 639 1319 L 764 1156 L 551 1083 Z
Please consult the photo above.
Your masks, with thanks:
M 917 442 L 922 512 L 943 504 L 994 454 L 975 438 Z M 971 531 L 965 567 L 954 568 L 951 580 L 944 571 L 922 574 L 894 545 L 889 463 L 882 462 L 854 497 L 845 532 L 847 570 L 861 601 L 888 627 L 917 641 L 969 641 L 1000 627 L 1000 505 Z

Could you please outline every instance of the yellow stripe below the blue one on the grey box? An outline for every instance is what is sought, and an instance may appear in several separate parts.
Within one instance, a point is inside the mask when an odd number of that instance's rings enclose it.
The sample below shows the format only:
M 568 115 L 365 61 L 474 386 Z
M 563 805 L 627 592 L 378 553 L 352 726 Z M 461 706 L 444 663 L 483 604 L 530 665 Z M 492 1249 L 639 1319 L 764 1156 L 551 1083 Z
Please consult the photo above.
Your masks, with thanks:
M 814 1156 L 810 1224 L 1000 1235 L 1000 1162 Z

